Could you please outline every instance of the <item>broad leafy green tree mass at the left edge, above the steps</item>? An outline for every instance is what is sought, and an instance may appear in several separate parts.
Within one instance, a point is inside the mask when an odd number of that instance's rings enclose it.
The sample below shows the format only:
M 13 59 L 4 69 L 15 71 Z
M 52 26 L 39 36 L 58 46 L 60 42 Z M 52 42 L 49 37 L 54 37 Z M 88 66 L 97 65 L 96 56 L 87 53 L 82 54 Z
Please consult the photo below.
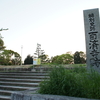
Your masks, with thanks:
M 5 48 L 4 41 L 0 37 L 0 65 L 19 65 L 21 56 L 17 52 Z

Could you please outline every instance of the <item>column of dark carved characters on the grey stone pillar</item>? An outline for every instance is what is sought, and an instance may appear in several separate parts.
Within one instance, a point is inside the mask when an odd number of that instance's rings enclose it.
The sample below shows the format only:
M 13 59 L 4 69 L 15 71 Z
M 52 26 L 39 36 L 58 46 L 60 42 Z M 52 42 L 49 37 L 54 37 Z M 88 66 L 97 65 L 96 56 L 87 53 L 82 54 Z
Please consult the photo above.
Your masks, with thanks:
M 96 66 L 99 67 L 100 64 L 100 59 L 98 58 L 98 54 L 100 53 L 98 48 L 99 48 L 99 43 L 98 43 L 98 31 L 96 30 L 96 25 L 95 25 L 95 15 L 94 13 L 88 14 L 88 20 L 89 20 L 89 27 L 90 27 L 90 32 L 88 33 L 89 35 L 89 49 L 90 49 L 90 65 L 91 66 Z

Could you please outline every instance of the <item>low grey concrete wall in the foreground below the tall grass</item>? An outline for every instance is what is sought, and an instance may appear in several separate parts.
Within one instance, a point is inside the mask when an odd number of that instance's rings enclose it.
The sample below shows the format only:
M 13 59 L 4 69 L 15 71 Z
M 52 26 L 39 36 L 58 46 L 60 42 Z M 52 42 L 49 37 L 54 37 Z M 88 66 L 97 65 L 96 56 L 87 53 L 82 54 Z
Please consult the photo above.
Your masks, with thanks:
M 86 99 L 76 98 L 69 96 L 58 96 L 58 95 L 42 95 L 42 94 L 28 94 L 25 92 L 13 93 L 11 100 L 97 100 L 97 99 Z

